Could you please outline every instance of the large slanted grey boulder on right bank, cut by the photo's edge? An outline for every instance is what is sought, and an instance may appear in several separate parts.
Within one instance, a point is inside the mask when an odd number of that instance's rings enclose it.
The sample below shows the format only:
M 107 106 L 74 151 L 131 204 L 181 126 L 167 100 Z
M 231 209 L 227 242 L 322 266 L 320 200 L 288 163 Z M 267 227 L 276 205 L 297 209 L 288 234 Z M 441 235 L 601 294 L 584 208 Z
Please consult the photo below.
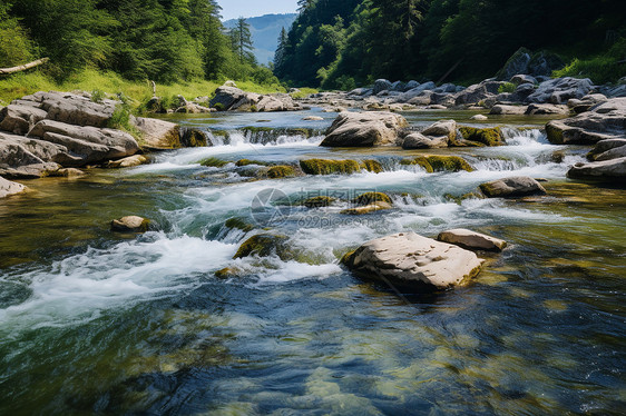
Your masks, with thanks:
M 626 98 L 612 98 L 576 117 L 546 125 L 548 140 L 555 145 L 594 145 L 626 137 Z

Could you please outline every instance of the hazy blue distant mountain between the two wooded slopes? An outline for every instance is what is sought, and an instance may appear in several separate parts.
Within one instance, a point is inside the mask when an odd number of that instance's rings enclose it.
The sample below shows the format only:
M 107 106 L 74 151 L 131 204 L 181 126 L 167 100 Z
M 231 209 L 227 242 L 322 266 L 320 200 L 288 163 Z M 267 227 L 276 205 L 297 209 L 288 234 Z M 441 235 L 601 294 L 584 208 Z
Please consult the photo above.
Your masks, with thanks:
M 246 19 L 251 26 L 252 40 L 254 42 L 254 56 L 258 63 L 267 63 L 274 60 L 274 52 L 278 46 L 281 29 L 290 30 L 296 13 L 286 14 L 265 14 L 257 18 Z M 232 29 L 236 24 L 236 19 L 226 20 L 224 27 Z

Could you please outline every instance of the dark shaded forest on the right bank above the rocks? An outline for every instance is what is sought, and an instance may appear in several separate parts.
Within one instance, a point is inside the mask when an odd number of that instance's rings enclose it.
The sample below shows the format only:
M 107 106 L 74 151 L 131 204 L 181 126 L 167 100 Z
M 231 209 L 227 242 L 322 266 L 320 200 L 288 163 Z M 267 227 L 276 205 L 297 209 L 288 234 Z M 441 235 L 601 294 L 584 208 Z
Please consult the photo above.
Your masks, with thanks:
M 376 78 L 471 81 L 520 47 L 548 50 L 569 75 L 626 75 L 623 0 L 301 0 L 275 73 L 297 85 L 350 88 Z M 575 60 L 577 59 L 577 60 Z M 608 66 L 608 67 L 607 67 Z M 564 72 L 565 73 L 565 72 Z

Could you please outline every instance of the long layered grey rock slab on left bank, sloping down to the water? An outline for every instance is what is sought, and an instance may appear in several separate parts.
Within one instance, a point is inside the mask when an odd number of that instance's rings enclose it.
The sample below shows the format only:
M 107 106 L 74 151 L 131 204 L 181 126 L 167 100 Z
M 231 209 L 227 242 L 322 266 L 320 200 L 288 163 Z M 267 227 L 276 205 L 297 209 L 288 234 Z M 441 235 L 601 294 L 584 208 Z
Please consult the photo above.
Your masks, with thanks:
M 70 157 L 55 160 L 63 166 L 82 166 L 108 159 L 135 155 L 139 145 L 133 136 L 114 129 L 79 127 L 59 121 L 39 121 L 29 132 L 30 137 L 63 146 Z

